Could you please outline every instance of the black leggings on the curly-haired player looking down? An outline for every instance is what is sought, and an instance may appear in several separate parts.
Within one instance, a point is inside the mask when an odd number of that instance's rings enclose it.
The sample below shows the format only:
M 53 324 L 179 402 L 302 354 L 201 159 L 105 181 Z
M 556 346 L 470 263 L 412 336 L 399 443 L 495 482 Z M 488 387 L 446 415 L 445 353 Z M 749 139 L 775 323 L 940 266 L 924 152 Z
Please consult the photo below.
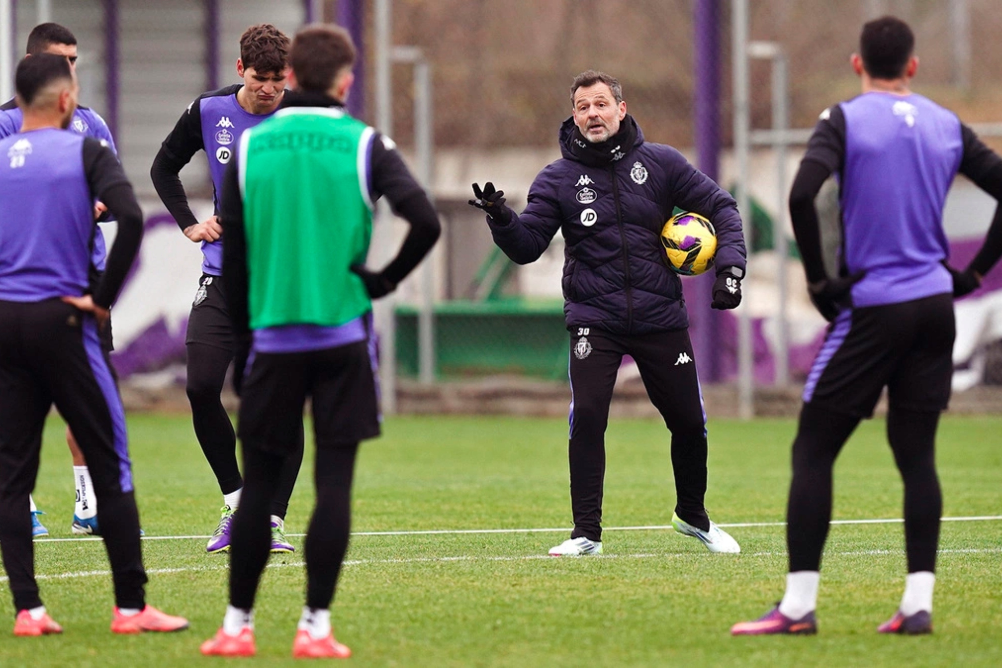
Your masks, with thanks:
M 191 403 L 191 419 L 201 452 L 215 474 L 222 494 L 235 492 L 243 486 L 236 465 L 236 437 L 219 394 L 226 379 L 226 369 L 233 359 L 232 351 L 205 344 L 187 345 L 187 391 Z M 293 496 L 296 479 L 303 464 L 303 432 L 300 447 L 282 465 L 282 475 L 272 497 L 271 514 L 285 519 L 289 499 Z M 240 495 L 242 506 L 242 497 Z

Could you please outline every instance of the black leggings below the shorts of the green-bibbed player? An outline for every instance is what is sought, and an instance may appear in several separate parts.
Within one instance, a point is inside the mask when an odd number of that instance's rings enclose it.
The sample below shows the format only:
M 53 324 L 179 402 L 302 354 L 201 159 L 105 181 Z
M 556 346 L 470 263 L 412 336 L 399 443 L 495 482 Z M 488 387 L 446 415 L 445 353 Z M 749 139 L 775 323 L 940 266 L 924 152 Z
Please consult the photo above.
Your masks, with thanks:
M 358 444 L 317 450 L 317 506 L 307 531 L 307 605 L 328 609 L 348 551 L 351 532 L 352 478 Z M 243 492 L 233 517 L 229 559 L 229 603 L 254 608 L 261 574 L 272 545 L 269 500 L 288 464 L 282 455 L 243 446 Z

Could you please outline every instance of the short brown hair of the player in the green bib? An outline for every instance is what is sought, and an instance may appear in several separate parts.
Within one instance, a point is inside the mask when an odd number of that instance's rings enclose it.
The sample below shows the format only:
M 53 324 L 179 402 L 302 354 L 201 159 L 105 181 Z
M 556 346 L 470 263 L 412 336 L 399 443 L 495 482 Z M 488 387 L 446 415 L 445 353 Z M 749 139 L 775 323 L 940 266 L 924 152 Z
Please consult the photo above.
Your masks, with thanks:
M 341 26 L 309 25 L 293 40 L 296 81 L 303 90 L 326 92 L 339 72 L 355 64 L 355 55 L 352 36 Z

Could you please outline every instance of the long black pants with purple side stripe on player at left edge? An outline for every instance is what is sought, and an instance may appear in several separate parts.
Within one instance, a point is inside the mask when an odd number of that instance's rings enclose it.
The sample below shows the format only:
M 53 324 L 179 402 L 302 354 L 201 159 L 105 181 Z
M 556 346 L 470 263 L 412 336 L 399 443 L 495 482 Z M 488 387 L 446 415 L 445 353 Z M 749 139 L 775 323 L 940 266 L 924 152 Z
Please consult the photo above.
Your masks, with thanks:
M 101 500 L 115 603 L 141 609 L 146 574 L 125 414 L 96 322 L 59 299 L 0 300 L 0 548 L 14 608 L 42 605 L 28 495 L 53 404 L 76 437 Z

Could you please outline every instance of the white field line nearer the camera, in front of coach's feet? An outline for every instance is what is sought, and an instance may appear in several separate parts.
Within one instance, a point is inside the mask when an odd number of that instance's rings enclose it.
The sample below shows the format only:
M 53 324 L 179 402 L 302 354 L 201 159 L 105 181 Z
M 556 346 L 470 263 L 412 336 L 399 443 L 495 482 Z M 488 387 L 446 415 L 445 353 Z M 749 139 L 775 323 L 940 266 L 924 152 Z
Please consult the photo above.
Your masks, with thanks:
M 882 556 L 900 556 L 902 554 L 901 550 L 857 550 L 857 551 L 846 551 L 846 552 L 826 552 L 827 557 L 840 556 L 840 557 L 882 557 Z M 960 549 L 960 550 L 940 550 L 940 555 L 957 555 L 957 554 L 1002 554 L 1002 548 L 985 548 L 985 549 Z M 745 558 L 748 557 L 786 557 L 786 552 L 750 552 L 744 553 L 742 555 Z M 682 559 L 693 557 L 696 559 L 719 559 L 719 557 L 714 557 L 708 552 L 699 553 L 636 553 L 636 554 L 622 554 L 622 555 L 596 555 L 593 557 L 587 557 L 587 559 Z M 725 557 L 724 557 L 725 558 Z M 349 559 L 345 561 L 345 566 L 374 566 L 374 565 L 399 565 L 399 564 L 442 564 L 450 562 L 519 562 L 519 561 L 552 561 L 556 562 L 564 561 L 566 562 L 568 558 L 560 559 L 559 557 L 550 557 L 549 555 L 518 555 L 518 556 L 499 556 L 499 557 L 470 557 L 470 556 L 458 556 L 458 557 L 413 557 L 407 559 Z M 577 557 L 577 559 L 583 559 L 582 557 Z M 228 564 L 228 562 L 227 562 Z M 269 564 L 268 568 L 303 568 L 306 566 L 306 562 L 295 561 L 295 562 L 277 562 L 274 564 Z M 183 566 L 177 568 L 151 568 L 146 570 L 147 575 L 171 575 L 176 573 L 201 573 L 208 571 L 227 571 L 229 570 L 228 565 L 213 565 L 213 566 Z M 78 578 L 97 578 L 97 577 L 109 577 L 111 571 L 79 571 L 77 573 L 54 573 L 50 575 L 36 575 L 36 580 L 71 580 Z M 5 583 L 9 580 L 6 576 L 0 577 L 0 583 Z

